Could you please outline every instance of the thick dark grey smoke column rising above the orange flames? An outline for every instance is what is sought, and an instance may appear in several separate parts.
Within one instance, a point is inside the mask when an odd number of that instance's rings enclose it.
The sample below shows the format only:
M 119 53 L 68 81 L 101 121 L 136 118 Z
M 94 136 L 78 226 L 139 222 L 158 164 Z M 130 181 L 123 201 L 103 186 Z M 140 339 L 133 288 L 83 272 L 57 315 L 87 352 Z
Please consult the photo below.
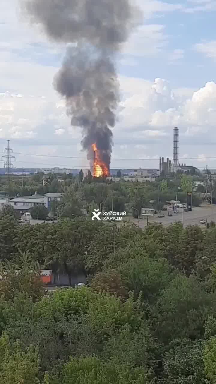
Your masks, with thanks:
M 93 159 L 91 146 L 96 143 L 110 169 L 110 128 L 115 126 L 119 101 L 114 56 L 140 22 L 140 11 L 130 0 L 20 2 L 30 22 L 42 26 L 53 41 L 72 43 L 53 86 L 65 98 L 71 125 L 82 129 L 88 159 Z

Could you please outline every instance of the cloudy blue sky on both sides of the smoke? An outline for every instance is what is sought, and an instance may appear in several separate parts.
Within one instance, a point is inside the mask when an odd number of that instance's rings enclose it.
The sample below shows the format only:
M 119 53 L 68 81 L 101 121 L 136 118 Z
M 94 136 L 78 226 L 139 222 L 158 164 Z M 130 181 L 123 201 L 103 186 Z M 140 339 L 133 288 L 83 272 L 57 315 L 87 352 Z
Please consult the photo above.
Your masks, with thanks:
M 216 156 L 216 1 L 139 2 L 143 25 L 116 57 L 122 100 L 111 166 L 157 167 L 158 157 L 172 158 L 178 125 L 180 161 L 216 167 L 206 159 Z M 80 129 L 52 87 L 64 53 L 23 19 L 18 0 L 1 1 L 0 152 L 10 139 L 17 167 L 88 167 Z

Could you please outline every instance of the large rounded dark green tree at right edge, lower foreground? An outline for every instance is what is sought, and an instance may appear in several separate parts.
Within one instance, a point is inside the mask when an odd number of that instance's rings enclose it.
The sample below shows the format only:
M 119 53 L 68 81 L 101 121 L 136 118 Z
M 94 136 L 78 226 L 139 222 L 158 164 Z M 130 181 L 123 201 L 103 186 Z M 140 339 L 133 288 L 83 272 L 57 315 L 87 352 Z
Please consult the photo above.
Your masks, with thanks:
M 177 275 L 153 308 L 156 336 L 163 343 L 175 338 L 201 338 L 214 305 L 215 295 L 206 293 L 194 276 Z

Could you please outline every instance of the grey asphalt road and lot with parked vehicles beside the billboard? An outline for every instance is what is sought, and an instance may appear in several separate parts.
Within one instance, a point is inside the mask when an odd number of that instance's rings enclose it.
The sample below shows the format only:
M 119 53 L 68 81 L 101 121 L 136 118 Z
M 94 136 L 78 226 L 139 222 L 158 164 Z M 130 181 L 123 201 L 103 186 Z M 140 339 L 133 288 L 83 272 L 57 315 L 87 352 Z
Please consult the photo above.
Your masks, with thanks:
M 158 215 L 155 215 L 154 217 L 149 217 L 148 222 L 156 222 L 156 223 L 162 223 L 163 225 L 167 226 L 171 223 L 181 221 L 183 222 L 184 227 L 187 227 L 188 225 L 199 225 L 200 227 L 205 227 L 205 224 L 200 224 L 200 220 L 206 219 L 208 222 L 211 220 L 214 220 L 216 222 L 216 206 L 213 205 L 213 209 L 211 206 L 203 206 L 203 207 L 193 207 L 192 212 L 184 212 L 182 216 L 182 210 L 174 215 L 169 217 L 168 212 L 164 211 L 163 214 L 165 217 L 159 218 Z M 143 217 L 140 220 L 135 220 L 135 223 L 140 225 L 140 228 L 146 227 L 147 220 L 146 217 Z

